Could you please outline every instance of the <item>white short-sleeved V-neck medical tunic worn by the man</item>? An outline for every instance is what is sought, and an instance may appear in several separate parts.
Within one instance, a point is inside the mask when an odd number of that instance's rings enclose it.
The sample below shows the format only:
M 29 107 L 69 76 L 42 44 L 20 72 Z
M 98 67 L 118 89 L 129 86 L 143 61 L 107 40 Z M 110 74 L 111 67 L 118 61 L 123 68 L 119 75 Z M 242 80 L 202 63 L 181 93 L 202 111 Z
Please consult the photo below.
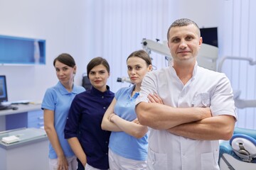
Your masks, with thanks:
M 149 93 L 158 94 L 168 106 L 210 107 L 213 116 L 233 115 L 236 118 L 228 78 L 223 73 L 199 67 L 197 63 L 193 76 L 185 85 L 173 67 L 149 72 L 144 77 L 136 104 L 147 102 Z M 147 169 L 217 170 L 218 155 L 218 140 L 192 140 L 166 130 L 150 130 Z

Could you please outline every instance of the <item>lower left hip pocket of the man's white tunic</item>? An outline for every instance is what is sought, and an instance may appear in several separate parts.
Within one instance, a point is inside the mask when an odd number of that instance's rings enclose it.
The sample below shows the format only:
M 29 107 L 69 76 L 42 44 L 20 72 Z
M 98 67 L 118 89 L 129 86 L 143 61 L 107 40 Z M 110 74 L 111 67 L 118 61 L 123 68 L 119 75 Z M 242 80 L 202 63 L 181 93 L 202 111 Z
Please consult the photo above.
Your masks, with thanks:
M 156 153 L 152 151 L 150 147 L 147 162 L 148 163 L 146 169 L 167 170 L 167 154 Z

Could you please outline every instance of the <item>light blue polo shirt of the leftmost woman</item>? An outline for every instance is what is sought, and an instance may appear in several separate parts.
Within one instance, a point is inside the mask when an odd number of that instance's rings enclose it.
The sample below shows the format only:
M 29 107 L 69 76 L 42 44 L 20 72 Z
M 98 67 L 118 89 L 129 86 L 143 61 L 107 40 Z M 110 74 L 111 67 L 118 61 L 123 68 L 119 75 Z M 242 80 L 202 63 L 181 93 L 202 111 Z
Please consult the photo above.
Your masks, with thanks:
M 85 91 L 85 88 L 73 85 L 72 91 L 68 92 L 63 84 L 58 81 L 58 84 L 46 90 L 46 94 L 43 97 L 41 108 L 54 111 L 54 127 L 65 157 L 72 157 L 75 155 L 70 148 L 70 145 L 68 145 L 68 141 L 64 138 L 64 127 L 73 98 L 82 91 Z M 57 154 L 51 144 L 49 144 L 49 148 L 49 158 L 57 159 Z

